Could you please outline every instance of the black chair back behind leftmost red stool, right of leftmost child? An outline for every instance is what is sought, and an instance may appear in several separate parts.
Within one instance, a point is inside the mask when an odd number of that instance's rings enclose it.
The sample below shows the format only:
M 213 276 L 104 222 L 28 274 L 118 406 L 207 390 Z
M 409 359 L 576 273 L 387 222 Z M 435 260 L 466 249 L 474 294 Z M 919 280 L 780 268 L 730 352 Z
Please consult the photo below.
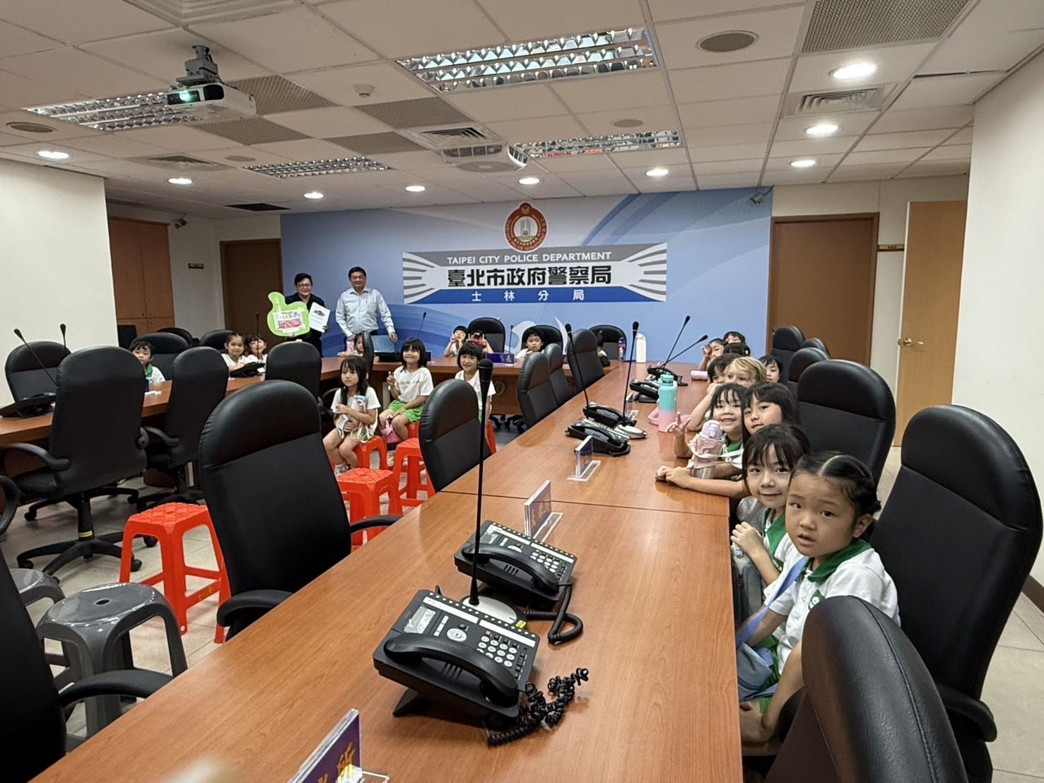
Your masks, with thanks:
M 198 456 L 199 435 L 211 411 L 224 399 L 229 369 L 212 348 L 190 348 L 177 355 L 171 369 L 170 399 L 163 431 L 179 438 L 168 450 L 170 467 L 187 465 Z

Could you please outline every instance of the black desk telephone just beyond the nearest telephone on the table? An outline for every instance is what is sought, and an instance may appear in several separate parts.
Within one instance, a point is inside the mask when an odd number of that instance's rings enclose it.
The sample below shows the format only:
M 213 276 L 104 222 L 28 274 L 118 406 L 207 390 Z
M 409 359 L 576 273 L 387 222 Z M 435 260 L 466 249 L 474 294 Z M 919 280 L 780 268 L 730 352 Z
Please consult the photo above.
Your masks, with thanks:
M 487 520 L 482 523 L 476 572 L 487 585 L 503 589 L 533 607 L 553 607 L 562 598 L 576 565 L 567 551 Z M 475 537 L 457 551 L 453 562 L 470 574 Z

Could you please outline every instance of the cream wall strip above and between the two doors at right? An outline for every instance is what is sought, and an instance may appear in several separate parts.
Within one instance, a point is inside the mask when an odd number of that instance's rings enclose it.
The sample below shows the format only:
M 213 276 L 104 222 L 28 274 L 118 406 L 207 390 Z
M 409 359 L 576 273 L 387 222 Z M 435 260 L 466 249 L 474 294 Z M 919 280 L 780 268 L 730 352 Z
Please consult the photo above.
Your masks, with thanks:
M 878 244 L 906 241 L 906 210 L 910 201 L 963 200 L 968 177 L 887 180 L 827 185 L 780 185 L 773 189 L 773 217 L 788 215 L 843 215 L 880 213 Z M 874 288 L 874 333 L 870 365 L 896 393 L 899 371 L 899 328 L 902 319 L 903 263 L 905 254 L 877 254 Z M 811 336 L 811 335 L 810 335 Z

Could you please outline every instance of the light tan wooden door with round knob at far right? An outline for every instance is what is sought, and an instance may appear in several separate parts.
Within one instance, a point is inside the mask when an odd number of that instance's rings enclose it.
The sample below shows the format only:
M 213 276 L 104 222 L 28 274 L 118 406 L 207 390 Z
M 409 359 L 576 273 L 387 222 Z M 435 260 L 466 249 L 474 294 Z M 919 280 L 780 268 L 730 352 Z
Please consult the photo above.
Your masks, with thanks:
M 953 401 L 967 214 L 967 201 L 909 205 L 899 332 L 897 444 L 915 413 Z

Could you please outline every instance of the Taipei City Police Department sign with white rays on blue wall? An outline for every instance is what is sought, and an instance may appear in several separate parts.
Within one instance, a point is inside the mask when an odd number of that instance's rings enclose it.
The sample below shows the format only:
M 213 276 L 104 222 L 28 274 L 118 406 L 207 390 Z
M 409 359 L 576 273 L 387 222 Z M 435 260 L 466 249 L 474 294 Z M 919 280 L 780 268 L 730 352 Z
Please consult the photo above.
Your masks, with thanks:
M 402 277 L 407 305 L 664 302 L 667 245 L 417 251 L 402 254 Z

